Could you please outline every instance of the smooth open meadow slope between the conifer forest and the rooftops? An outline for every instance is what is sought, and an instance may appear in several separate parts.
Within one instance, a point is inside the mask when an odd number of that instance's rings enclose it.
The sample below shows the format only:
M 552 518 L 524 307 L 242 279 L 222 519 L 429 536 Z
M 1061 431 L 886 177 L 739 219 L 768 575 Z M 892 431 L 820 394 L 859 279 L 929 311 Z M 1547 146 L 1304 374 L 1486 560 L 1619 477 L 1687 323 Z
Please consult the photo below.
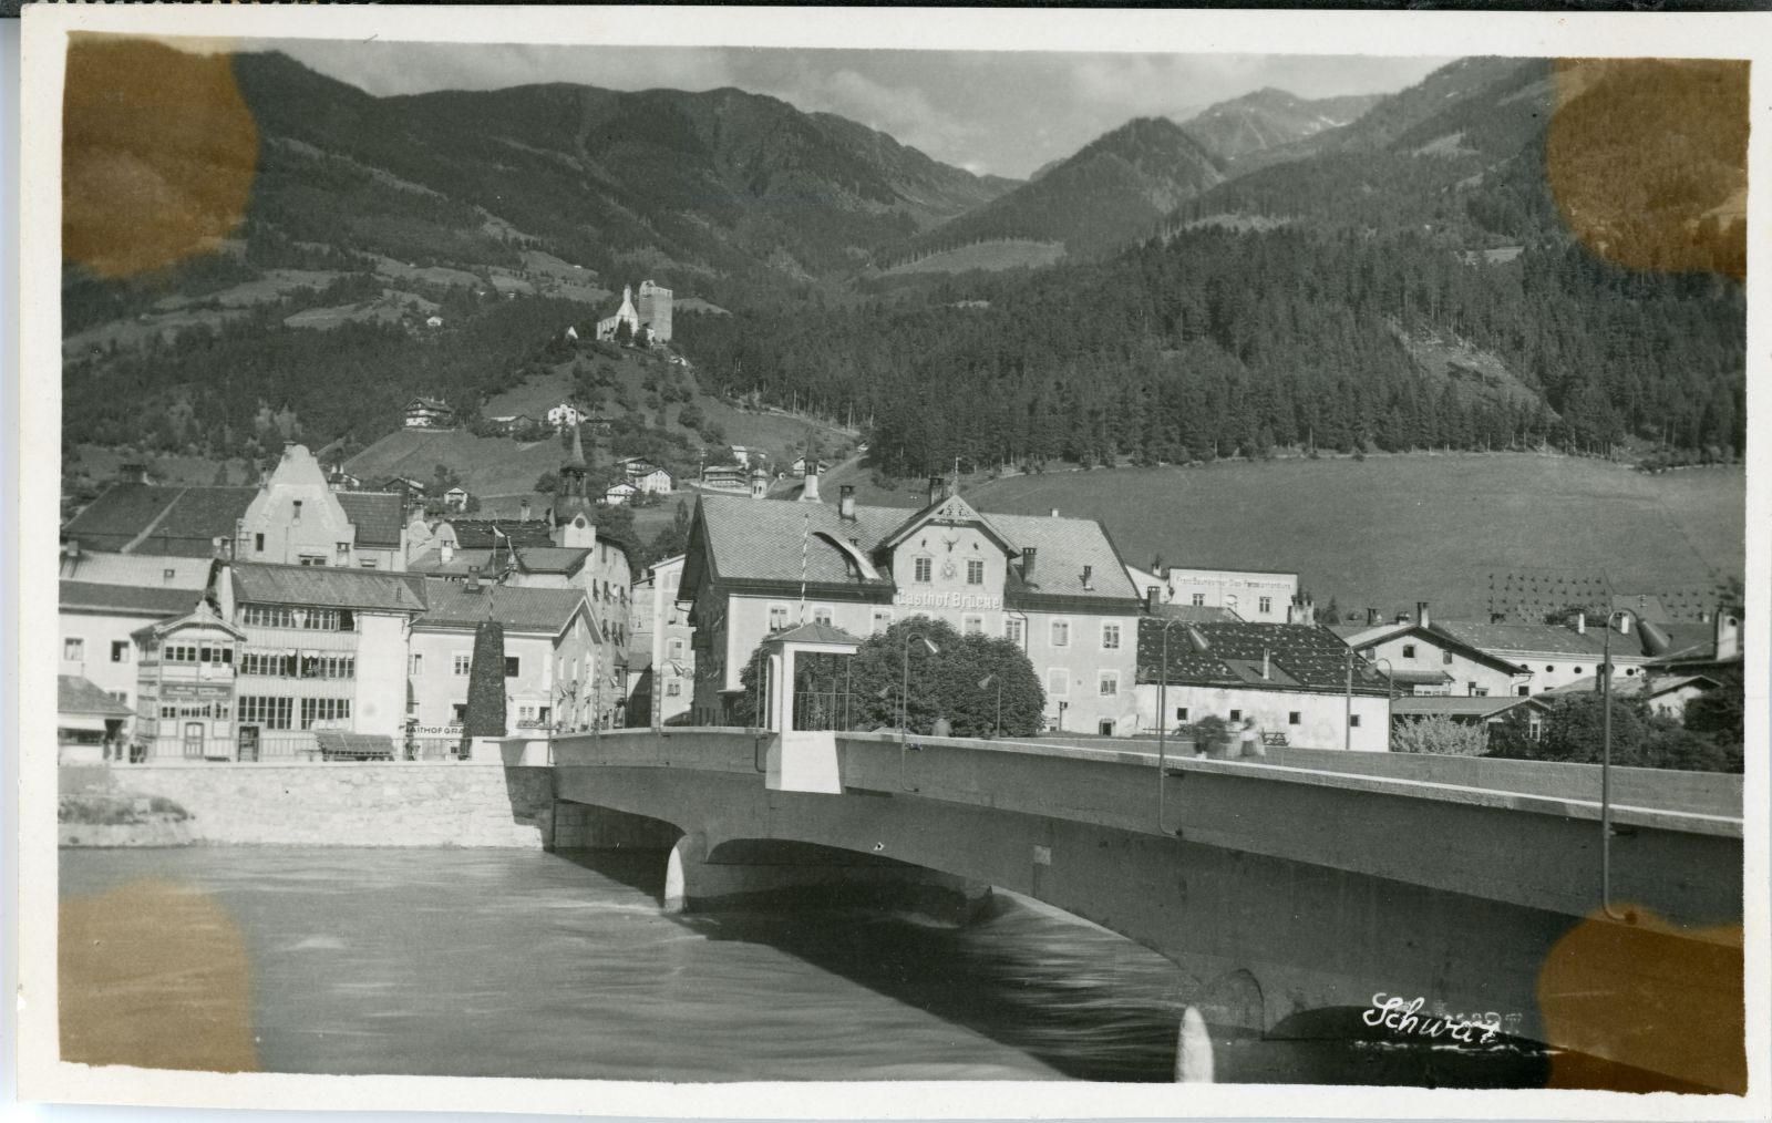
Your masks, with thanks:
M 1343 609 L 1428 600 L 1442 618 L 1481 618 L 1488 574 L 1503 569 L 1604 569 L 1637 592 L 1708 588 L 1745 567 L 1738 468 L 1368 457 L 1061 471 L 966 494 L 987 512 L 1100 519 L 1132 565 L 1161 553 L 1171 565 L 1295 570 L 1318 606 L 1333 595 Z

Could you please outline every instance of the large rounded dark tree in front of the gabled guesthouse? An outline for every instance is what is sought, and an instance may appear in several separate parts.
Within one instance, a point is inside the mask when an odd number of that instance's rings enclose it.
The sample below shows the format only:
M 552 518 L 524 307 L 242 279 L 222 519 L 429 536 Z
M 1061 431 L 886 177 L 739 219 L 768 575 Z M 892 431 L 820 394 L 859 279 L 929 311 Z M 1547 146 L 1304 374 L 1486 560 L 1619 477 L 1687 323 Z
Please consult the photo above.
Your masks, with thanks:
M 936 650 L 930 652 L 921 639 Z M 744 696 L 737 719 L 744 724 L 755 721 L 751 707 L 760 666 L 758 647 L 739 673 Z M 904 712 L 913 733 L 929 733 L 937 717 L 946 717 L 955 737 L 991 737 L 998 730 L 999 685 L 1005 735 L 1037 733 L 1045 710 L 1040 677 L 1019 647 L 991 636 L 960 636 L 950 623 L 929 616 L 893 623 L 865 639 L 861 650 L 849 657 L 801 655 L 794 670 L 803 721 L 810 714 L 829 728 L 898 728 L 905 670 L 911 689 Z

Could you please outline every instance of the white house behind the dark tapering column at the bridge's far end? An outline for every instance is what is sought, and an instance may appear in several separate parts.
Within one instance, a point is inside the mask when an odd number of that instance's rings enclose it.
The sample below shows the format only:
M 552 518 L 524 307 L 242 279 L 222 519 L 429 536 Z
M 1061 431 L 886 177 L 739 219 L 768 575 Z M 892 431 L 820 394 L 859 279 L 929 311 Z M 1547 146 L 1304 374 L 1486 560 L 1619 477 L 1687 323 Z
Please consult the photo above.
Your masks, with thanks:
M 468 710 L 473 634 L 503 629 L 507 733 L 588 730 L 597 680 L 597 622 L 578 588 L 519 588 L 478 579 L 436 583 L 413 620 L 409 719 L 418 739 L 459 739 Z

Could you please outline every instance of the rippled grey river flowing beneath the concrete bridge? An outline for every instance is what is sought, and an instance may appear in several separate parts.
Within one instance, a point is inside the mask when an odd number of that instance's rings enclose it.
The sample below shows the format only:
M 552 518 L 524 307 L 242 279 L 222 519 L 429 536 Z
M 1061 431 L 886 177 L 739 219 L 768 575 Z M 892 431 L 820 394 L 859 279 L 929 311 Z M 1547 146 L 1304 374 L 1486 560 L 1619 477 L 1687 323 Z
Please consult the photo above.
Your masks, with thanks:
M 645 852 L 67 848 L 62 1056 L 696 1082 L 1173 1077 L 1182 974 L 1113 932 L 1006 893 L 966 928 L 838 910 L 672 918 L 663 870 Z M 1536 1049 L 1375 1042 L 1359 1013 L 1219 1040 L 1216 1075 L 1547 1080 Z M 1680 1088 L 1611 1066 L 1574 1079 Z

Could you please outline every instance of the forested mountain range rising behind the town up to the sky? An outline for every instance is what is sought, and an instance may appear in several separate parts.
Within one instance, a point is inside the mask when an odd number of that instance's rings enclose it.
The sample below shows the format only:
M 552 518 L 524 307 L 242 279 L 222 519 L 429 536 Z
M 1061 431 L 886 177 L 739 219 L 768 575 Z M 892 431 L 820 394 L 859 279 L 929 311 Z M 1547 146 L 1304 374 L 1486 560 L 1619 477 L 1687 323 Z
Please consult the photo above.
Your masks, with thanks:
M 71 83 L 103 90 L 124 73 L 172 85 L 188 60 L 145 41 L 90 39 L 67 66 Z M 310 438 L 372 439 L 395 423 L 402 393 L 489 393 L 533 361 L 548 333 L 567 322 L 588 333 L 624 283 L 652 278 L 679 294 L 684 345 L 732 363 L 703 390 L 762 386 L 856 416 L 891 409 L 890 395 L 856 390 L 858 379 L 897 384 L 877 368 L 881 354 L 929 361 L 918 335 L 879 344 L 900 308 L 920 308 L 925 344 L 930 333 L 1017 333 L 1022 342 L 973 340 L 962 368 L 1037 383 L 1061 365 L 1022 354 L 1042 306 L 1102 317 L 1065 294 L 1111 283 L 1116 328 L 1090 333 L 1079 370 L 1166 379 L 1175 354 L 1210 347 L 1207 367 L 1226 386 L 1249 370 L 1313 402 L 1341 393 L 1336 379 L 1382 370 L 1372 409 L 1402 411 L 1396 432 L 1464 439 L 1481 425 L 1451 414 L 1416 425 L 1409 418 L 1428 407 L 1398 400 L 1414 379 L 1432 388 L 1434 409 L 1457 413 L 1441 402 L 1451 370 L 1462 384 L 1504 388 L 1485 399 L 1485 420 L 1506 441 L 1550 432 L 1579 402 L 1591 422 L 1584 448 L 1646 432 L 1669 409 L 1680 411 L 1680 443 L 1738 445 L 1738 294 L 1706 303 L 1705 289 L 1744 267 L 1745 115 L 1717 108 L 1745 105 L 1745 67 L 1731 64 L 1467 58 L 1373 99 L 1258 90 L 1180 124 L 1129 120 L 1030 181 L 975 175 L 843 117 L 735 89 L 553 83 L 372 97 L 278 53 L 234 57 L 232 80 L 257 142 L 232 237 L 135 278 L 64 271 L 69 443 L 120 443 L 147 416 L 156 441 L 243 455 L 266 402 L 294 409 Z M 94 158 L 103 167 L 106 154 Z M 188 161 L 204 158 L 191 131 Z M 1226 243 L 1226 232 L 1267 241 Z M 955 275 L 989 260 L 962 250 L 998 244 L 1037 246 L 1001 260 L 1047 267 Z M 1570 266 L 1574 250 L 1630 255 L 1618 264 L 1659 273 L 1620 280 L 1605 271 L 1613 262 Z M 1311 262 L 1331 260 L 1345 282 L 1324 294 Z M 1246 275 L 1247 262 L 1283 276 Z M 1405 264 L 1418 271 L 1409 283 L 1386 273 Z M 1217 276 L 1201 276 L 1207 267 Z M 1327 276 L 1329 264 L 1318 267 Z M 1232 276 L 1244 289 L 1226 289 Z M 1263 294 L 1285 285 L 1299 287 L 1304 319 L 1285 326 L 1281 354 L 1263 306 L 1278 298 Z M 1616 324 L 1597 305 L 1620 292 L 1653 328 Z M 1012 314 L 950 322 L 937 312 L 992 301 Z M 732 326 L 753 315 L 746 331 L 792 338 L 797 351 L 746 361 L 732 329 L 709 328 L 698 306 L 737 312 Z M 1122 322 L 1127 308 L 1139 314 Z M 826 310 L 854 312 L 840 342 Z M 1522 326 L 1545 310 L 1556 315 Z M 427 317 L 445 335 L 425 335 Z M 1641 338 L 1627 345 L 1621 329 Z M 1705 340 L 1685 360 L 1669 351 L 1682 333 Z M 206 351 L 241 376 L 193 386 L 193 354 Z M 1288 365 L 1325 351 L 1345 370 L 1295 386 Z M 1682 372 L 1699 352 L 1703 370 Z M 1008 354 L 1019 356 L 1014 370 L 1001 365 Z M 744 374 L 766 365 L 767 377 Z M 369 368 L 397 384 L 377 384 L 374 407 L 342 407 L 340 372 Z M 1682 397 L 1689 381 L 1701 391 Z M 1021 400 L 1069 416 L 1060 404 L 1070 399 L 1035 383 Z M 1088 381 L 1072 390 L 1086 397 Z M 1154 393 L 1122 390 L 1125 418 Z M 1189 400 L 1175 399 L 1178 416 Z M 1520 411 L 1531 416 L 1512 416 Z M 1251 416 L 1239 425 L 1281 445 L 1311 430 L 1297 416 Z M 1364 439 L 1354 422 L 1340 432 L 1348 446 Z M 1104 434 L 1090 438 L 1090 455 L 1113 455 Z M 1219 443 L 1200 436 L 1189 452 L 1200 448 L 1216 455 Z M 898 462 L 918 455 L 898 450 Z

